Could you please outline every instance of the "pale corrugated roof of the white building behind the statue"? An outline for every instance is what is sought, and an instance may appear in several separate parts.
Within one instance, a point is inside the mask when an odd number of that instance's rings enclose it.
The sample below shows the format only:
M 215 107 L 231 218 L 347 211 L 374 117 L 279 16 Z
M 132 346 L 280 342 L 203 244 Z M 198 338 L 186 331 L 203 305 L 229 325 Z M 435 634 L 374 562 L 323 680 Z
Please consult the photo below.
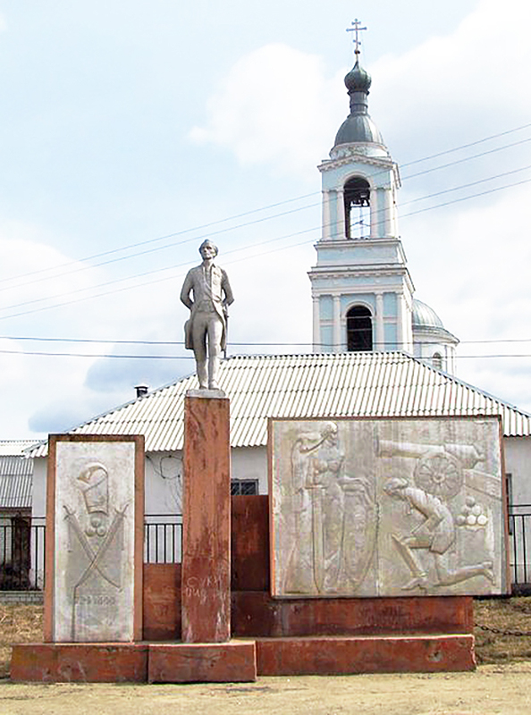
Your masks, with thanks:
M 506 436 L 531 434 L 531 415 L 401 352 L 229 357 L 220 387 L 232 447 L 265 445 L 267 417 L 501 415 Z M 184 395 L 197 388 L 184 377 L 71 433 L 144 434 L 147 451 L 181 450 Z

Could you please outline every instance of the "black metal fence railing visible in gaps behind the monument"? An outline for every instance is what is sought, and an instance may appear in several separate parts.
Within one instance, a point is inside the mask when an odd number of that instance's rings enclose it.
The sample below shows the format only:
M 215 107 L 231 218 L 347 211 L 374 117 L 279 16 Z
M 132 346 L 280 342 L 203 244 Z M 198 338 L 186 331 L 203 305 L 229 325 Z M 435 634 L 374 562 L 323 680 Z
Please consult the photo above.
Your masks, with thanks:
M 45 526 L 29 519 L 0 526 L 0 591 L 42 589 L 45 579 Z M 151 514 L 144 523 L 144 562 L 180 563 L 182 517 Z M 512 584 L 531 587 L 531 504 L 509 509 Z

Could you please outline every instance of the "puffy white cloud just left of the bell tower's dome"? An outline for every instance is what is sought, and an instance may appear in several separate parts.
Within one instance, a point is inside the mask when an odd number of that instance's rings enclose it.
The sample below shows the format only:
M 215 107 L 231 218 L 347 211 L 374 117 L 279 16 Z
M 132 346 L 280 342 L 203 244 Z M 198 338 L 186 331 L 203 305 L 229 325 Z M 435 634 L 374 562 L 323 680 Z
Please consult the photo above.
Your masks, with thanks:
M 208 101 L 206 127 L 190 138 L 234 151 L 241 164 L 273 164 L 306 175 L 331 142 L 337 77 L 292 47 L 267 45 L 245 55 Z M 345 101 L 345 110 L 348 104 Z

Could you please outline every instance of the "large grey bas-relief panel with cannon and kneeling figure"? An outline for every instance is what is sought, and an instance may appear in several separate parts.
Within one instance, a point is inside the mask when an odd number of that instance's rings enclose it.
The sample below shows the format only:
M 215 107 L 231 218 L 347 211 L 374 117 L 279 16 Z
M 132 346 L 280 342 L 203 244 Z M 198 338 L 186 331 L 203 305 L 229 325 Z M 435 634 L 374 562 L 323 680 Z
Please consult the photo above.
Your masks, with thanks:
M 272 593 L 507 593 L 497 417 L 269 421 Z

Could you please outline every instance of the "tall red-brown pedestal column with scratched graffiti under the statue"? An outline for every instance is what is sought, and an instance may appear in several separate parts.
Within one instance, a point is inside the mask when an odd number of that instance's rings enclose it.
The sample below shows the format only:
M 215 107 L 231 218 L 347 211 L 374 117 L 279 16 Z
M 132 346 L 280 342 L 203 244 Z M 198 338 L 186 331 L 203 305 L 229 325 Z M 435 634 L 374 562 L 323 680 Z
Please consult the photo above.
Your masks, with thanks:
M 185 398 L 181 614 L 184 643 L 231 637 L 229 400 Z

